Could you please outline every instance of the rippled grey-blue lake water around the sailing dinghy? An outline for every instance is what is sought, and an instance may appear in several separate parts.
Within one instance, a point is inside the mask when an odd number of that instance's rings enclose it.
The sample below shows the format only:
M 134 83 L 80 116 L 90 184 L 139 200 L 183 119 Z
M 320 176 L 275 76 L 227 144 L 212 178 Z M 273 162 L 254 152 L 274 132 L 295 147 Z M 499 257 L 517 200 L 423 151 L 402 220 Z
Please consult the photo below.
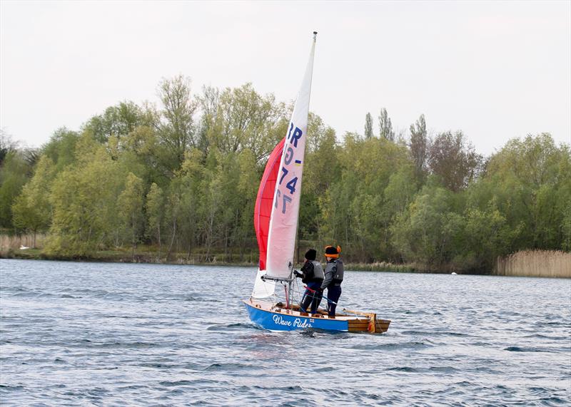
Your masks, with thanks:
M 0 260 L 3 406 L 569 406 L 571 280 L 346 272 L 380 335 L 270 332 L 256 269 Z

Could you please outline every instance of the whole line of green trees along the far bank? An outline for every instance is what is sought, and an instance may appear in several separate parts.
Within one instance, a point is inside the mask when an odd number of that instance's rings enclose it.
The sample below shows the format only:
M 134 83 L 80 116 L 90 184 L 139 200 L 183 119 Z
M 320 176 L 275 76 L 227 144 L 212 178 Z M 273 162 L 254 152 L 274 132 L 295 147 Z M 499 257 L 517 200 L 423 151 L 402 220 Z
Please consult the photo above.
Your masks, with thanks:
M 47 233 L 44 252 L 89 257 L 138 245 L 157 257 L 243 262 L 256 253 L 253 205 L 290 103 L 251 84 L 160 103 L 124 101 L 37 150 L 0 136 L 0 227 Z M 396 134 L 385 108 L 341 137 L 310 113 L 300 246 L 340 244 L 350 262 L 489 269 L 520 249 L 571 250 L 571 151 L 547 133 L 483 157 L 461 130 L 429 135 L 424 115 Z M 303 249 L 302 247 L 302 249 Z

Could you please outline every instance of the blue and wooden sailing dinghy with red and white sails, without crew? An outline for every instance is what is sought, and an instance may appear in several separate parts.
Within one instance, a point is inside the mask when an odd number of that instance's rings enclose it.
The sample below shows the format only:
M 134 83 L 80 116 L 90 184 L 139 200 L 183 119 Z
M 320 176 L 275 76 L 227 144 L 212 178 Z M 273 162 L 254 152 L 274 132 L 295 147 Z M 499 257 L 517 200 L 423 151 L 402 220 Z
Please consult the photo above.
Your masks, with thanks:
M 350 311 L 329 316 L 327 311 L 304 312 L 293 304 L 293 255 L 301 195 L 309 98 L 313 74 L 313 41 L 305 75 L 295 101 L 288 131 L 268 158 L 254 209 L 254 227 L 260 249 L 259 269 L 250 299 L 243 300 L 250 319 L 271 331 L 324 329 L 327 331 L 380 333 L 390 321 L 373 312 Z M 283 301 L 278 292 L 283 287 Z

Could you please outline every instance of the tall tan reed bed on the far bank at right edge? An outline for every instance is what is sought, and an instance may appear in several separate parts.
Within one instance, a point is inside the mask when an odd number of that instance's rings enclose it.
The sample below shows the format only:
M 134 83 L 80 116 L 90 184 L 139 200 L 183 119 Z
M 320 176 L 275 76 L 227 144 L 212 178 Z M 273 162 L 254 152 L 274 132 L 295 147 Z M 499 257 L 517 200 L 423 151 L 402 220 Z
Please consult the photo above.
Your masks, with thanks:
M 498 257 L 494 274 L 518 277 L 571 277 L 571 253 L 525 250 Z

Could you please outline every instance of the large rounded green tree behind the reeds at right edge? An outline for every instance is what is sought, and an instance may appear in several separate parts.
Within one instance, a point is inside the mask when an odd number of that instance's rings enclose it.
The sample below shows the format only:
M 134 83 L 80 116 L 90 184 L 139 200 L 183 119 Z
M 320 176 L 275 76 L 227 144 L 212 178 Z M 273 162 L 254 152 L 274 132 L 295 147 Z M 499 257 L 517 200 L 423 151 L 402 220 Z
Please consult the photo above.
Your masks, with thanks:
M 571 200 L 568 145 L 557 147 L 547 133 L 513 139 L 489 160 L 475 205 L 494 200 L 512 229 L 520 230 L 512 250 L 560 249 Z

